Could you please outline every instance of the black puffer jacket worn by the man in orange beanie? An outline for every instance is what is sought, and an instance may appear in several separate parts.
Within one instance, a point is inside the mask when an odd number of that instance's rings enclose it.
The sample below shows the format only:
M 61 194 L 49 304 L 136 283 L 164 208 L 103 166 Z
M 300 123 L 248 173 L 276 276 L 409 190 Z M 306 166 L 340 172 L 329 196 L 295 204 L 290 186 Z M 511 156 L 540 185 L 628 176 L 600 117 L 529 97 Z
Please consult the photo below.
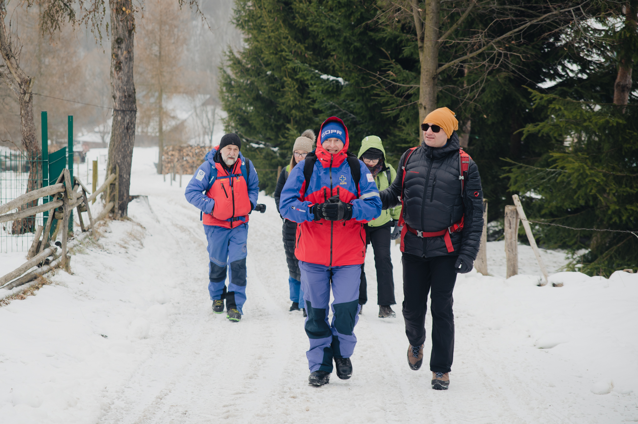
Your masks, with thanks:
M 415 230 L 436 232 L 447 229 L 465 215 L 463 231 L 450 235 L 453 253 L 447 251 L 443 236 L 422 238 L 412 232 L 405 235 L 405 253 L 420 257 L 463 253 L 471 258 L 477 257 L 483 231 L 483 190 L 479 168 L 470 159 L 464 195 L 461 196 L 459 148 L 459 137 L 453 132 L 443 147 L 433 148 L 422 143 L 410 155 L 405 169 L 403 164 L 408 152 L 403 153 L 392 185 L 380 193 L 383 209 L 399 204 L 401 181 L 406 172 L 403 219 Z

